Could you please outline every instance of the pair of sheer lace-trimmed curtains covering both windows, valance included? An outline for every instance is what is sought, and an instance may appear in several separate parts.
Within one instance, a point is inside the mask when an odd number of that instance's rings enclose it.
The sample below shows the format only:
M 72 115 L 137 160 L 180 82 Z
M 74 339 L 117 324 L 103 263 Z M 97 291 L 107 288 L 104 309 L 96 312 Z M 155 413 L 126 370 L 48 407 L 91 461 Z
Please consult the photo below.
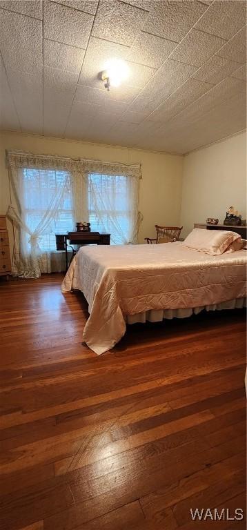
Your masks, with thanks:
M 137 242 L 140 166 L 12 152 L 7 165 L 16 275 L 64 270 L 55 233 L 75 230 L 77 221 L 110 233 L 114 244 Z

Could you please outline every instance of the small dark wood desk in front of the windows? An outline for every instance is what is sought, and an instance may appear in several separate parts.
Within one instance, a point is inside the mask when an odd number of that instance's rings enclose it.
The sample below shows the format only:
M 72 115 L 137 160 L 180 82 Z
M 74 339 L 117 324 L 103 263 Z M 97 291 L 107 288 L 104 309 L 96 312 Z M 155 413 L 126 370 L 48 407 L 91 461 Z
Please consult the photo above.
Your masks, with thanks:
M 68 246 L 71 245 L 110 245 L 110 234 L 99 232 L 68 232 L 67 234 L 55 234 L 57 251 L 64 251 L 66 257 L 66 271 L 68 271 Z M 72 257 L 77 251 L 72 248 Z

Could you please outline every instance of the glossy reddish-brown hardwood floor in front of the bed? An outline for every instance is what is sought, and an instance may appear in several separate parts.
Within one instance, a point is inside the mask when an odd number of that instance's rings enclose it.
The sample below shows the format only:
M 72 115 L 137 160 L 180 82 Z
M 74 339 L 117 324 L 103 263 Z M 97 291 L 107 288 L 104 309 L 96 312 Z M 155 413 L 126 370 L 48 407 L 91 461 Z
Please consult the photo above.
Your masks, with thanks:
M 0 282 L 2 530 L 246 528 L 244 311 L 82 342 L 61 275 Z

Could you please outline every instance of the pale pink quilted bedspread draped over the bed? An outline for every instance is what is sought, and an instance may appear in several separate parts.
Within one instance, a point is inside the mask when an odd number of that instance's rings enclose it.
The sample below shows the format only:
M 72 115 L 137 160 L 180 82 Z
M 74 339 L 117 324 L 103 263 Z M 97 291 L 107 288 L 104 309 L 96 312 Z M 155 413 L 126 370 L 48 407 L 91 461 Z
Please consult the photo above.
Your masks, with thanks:
M 85 246 L 63 280 L 62 291 L 71 289 L 88 301 L 83 340 L 100 355 L 123 337 L 125 315 L 245 297 L 246 251 L 210 256 L 180 242 Z

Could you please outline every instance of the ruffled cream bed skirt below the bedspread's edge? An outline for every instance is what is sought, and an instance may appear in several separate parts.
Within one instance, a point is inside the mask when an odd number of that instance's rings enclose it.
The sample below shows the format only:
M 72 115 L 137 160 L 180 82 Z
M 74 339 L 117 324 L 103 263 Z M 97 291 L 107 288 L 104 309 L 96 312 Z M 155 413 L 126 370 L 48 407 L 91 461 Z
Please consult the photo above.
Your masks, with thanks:
M 137 324 L 138 322 L 161 322 L 165 318 L 171 320 L 172 318 L 186 318 L 193 313 L 198 315 L 204 309 L 206 311 L 221 311 L 222 309 L 241 309 L 246 307 L 246 298 L 235 298 L 228 300 L 228 302 L 221 302 L 220 304 L 210 304 L 209 306 L 199 306 L 186 309 L 150 309 L 143 313 L 135 313 L 134 315 L 126 315 L 126 324 Z

